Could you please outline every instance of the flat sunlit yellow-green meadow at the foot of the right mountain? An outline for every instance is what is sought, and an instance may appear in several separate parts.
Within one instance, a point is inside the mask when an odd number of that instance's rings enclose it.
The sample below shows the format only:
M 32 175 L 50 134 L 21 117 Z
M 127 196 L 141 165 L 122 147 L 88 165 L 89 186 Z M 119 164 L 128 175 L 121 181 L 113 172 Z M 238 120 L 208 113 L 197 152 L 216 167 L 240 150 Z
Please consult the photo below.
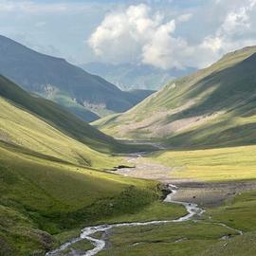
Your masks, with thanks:
M 206 181 L 256 178 L 256 146 L 170 151 L 150 157 L 174 168 L 174 177 Z

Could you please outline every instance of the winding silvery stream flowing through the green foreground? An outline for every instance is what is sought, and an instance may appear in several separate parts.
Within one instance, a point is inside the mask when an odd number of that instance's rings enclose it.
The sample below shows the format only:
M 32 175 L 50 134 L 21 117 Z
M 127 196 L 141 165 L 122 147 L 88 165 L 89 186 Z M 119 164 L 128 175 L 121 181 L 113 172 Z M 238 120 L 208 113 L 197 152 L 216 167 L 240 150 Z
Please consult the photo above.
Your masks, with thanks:
M 84 229 L 82 229 L 79 237 L 76 237 L 73 240 L 65 243 L 63 246 L 59 247 L 58 249 L 47 252 L 46 256 L 58 256 L 66 248 L 71 247 L 72 245 L 74 245 L 77 242 L 80 242 L 82 240 L 87 240 L 87 241 L 91 242 L 92 245 L 94 246 L 94 248 L 84 251 L 83 253 L 81 253 L 81 252 L 77 253 L 76 251 L 73 251 L 72 255 L 74 255 L 74 256 L 97 255 L 97 253 L 99 253 L 106 246 L 106 241 L 103 238 L 96 239 L 93 237 L 93 234 L 95 234 L 97 232 L 106 232 L 109 229 L 119 228 L 119 227 L 137 227 L 137 226 L 148 226 L 148 225 L 161 225 L 161 224 L 165 224 L 165 223 L 174 223 L 174 222 L 184 222 L 184 221 L 191 220 L 194 215 L 200 216 L 204 212 L 204 210 L 199 208 L 196 204 L 174 201 L 173 195 L 177 192 L 178 188 L 173 184 L 169 184 L 168 187 L 169 187 L 170 193 L 166 196 L 166 198 L 164 199 L 164 202 L 183 205 L 186 208 L 186 210 L 188 211 L 188 214 L 186 214 L 185 216 L 182 216 L 182 217 L 180 217 L 178 219 L 174 219 L 174 220 L 155 220 L 155 221 L 149 221 L 149 222 L 105 224 L 105 225 L 100 225 L 100 226 L 84 228 Z

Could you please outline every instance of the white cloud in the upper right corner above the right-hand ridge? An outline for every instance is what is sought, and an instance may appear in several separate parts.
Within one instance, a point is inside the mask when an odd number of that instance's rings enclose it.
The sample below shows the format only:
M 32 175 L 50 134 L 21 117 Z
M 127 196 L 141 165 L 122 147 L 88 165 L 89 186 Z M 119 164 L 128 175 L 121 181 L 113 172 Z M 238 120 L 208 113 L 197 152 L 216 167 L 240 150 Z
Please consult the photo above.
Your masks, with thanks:
M 252 35 L 255 11 L 256 0 L 244 1 L 242 5 L 230 9 L 215 34 L 205 37 L 197 46 L 195 52 L 205 52 L 208 58 L 202 59 L 199 67 L 211 64 L 229 51 L 256 45 L 256 37 Z

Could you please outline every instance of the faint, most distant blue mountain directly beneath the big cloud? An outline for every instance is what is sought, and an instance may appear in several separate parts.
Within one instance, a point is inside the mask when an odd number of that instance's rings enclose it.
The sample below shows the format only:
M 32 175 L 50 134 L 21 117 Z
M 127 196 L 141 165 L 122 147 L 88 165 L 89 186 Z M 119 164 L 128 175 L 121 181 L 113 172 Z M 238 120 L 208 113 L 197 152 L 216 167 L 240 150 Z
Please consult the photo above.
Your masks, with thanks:
M 82 64 L 81 67 L 127 91 L 132 89 L 158 90 L 171 79 L 182 77 L 195 71 L 192 67 L 163 70 L 146 64 L 88 63 Z

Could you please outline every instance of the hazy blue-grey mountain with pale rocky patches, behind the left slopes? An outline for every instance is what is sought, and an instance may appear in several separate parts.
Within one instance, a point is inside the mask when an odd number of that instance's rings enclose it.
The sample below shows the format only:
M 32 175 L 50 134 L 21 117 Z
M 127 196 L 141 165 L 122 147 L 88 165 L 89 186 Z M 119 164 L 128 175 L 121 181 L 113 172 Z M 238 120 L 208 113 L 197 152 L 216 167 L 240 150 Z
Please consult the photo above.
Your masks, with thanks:
M 87 121 L 128 110 L 152 93 L 135 97 L 64 59 L 38 53 L 4 36 L 0 36 L 0 56 L 0 74 Z

